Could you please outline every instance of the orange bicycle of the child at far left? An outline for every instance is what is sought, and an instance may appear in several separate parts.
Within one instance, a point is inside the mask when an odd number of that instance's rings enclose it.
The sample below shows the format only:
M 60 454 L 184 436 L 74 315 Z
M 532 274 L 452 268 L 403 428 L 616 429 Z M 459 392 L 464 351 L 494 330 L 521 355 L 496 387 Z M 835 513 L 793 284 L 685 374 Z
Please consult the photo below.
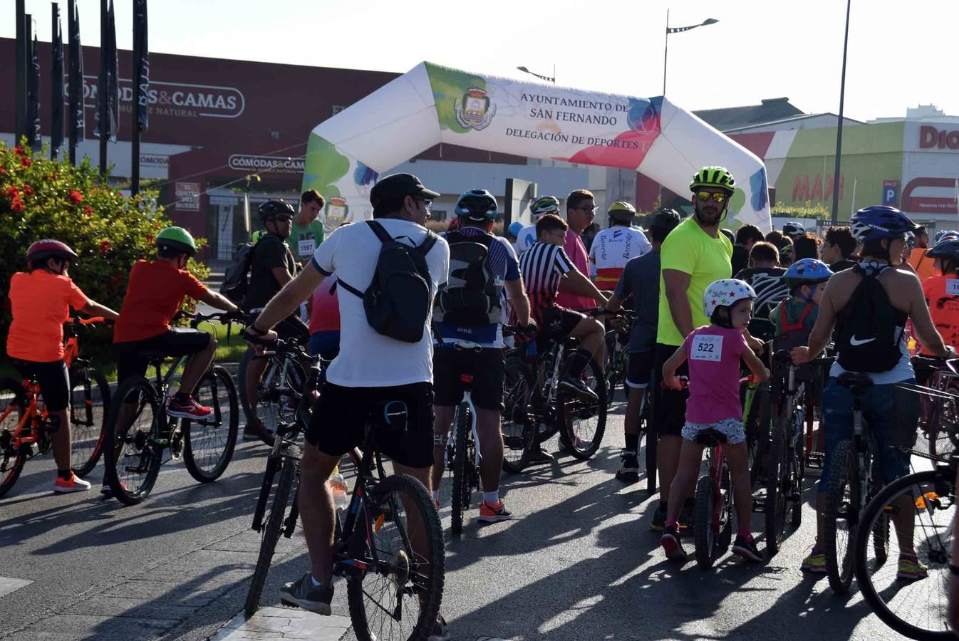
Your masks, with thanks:
M 63 361 L 70 381 L 70 467 L 86 476 L 100 458 L 110 388 L 90 362 L 80 357 L 80 328 L 105 323 L 101 317 L 72 317 L 64 328 Z M 36 380 L 0 380 L 0 496 L 16 483 L 27 460 L 46 454 L 57 426 L 47 416 Z

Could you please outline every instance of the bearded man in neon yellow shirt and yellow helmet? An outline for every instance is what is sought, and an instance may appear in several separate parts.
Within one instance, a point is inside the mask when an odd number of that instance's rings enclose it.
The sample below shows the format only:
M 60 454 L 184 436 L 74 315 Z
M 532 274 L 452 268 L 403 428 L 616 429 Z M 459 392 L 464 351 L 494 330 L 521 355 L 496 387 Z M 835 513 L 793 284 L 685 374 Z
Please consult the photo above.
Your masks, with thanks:
M 660 504 L 651 526 L 656 532 L 662 532 L 666 521 L 667 498 L 679 462 L 680 433 L 686 423 L 689 398 L 687 390 L 661 389 L 663 364 L 683 344 L 687 334 L 710 324 L 703 312 L 706 287 L 732 276 L 733 243 L 719 233 L 719 225 L 726 217 L 735 184 L 733 175 L 722 167 L 705 167 L 696 172 L 690 182 L 694 213 L 669 233 L 660 253 L 657 379 L 653 381 L 653 424 L 659 435 L 656 451 L 660 475 Z M 687 375 L 682 369 L 677 374 Z

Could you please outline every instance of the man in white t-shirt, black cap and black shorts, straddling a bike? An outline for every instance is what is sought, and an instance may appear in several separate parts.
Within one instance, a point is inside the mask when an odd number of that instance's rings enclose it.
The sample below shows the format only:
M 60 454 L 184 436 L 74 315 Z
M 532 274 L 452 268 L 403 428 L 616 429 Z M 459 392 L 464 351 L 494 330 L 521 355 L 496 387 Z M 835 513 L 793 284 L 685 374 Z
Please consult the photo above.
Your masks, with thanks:
M 426 254 L 430 271 L 431 306 L 449 273 L 450 248 L 423 225 L 438 196 L 409 173 L 386 176 L 370 190 L 372 222 L 411 246 L 434 240 Z M 430 489 L 433 466 L 433 337 L 429 319 L 423 337 L 408 343 L 376 332 L 366 321 L 359 291 L 370 285 L 379 260 L 381 242 L 371 226 L 359 222 L 339 227 L 316 249 L 310 263 L 285 286 L 247 328 L 254 340 L 275 336 L 269 328 L 308 298 L 323 280 L 339 280 L 339 355 L 326 370 L 326 383 L 307 428 L 300 468 L 299 499 L 303 534 L 312 571 L 280 590 L 284 601 L 319 614 L 330 614 L 333 598 L 333 497 L 326 484 L 343 454 L 363 446 L 367 416 L 386 402 L 406 405 L 405 429 L 376 432 L 377 449 L 393 461 L 397 473 L 411 474 Z M 446 624 L 439 617 L 435 638 L 444 638 Z M 446 637 L 448 638 L 448 637 Z

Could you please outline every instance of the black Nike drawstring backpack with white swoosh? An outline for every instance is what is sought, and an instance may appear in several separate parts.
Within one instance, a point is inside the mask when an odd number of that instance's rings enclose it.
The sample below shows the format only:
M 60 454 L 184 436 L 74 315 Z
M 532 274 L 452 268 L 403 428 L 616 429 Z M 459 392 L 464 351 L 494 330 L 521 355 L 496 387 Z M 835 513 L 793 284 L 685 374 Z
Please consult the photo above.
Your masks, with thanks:
M 867 272 L 853 267 L 862 276 L 844 309 L 843 322 L 836 340 L 839 365 L 848 372 L 877 374 L 888 372 L 900 361 L 900 338 L 896 338 L 896 319 L 889 294 L 879 283 L 881 267 Z

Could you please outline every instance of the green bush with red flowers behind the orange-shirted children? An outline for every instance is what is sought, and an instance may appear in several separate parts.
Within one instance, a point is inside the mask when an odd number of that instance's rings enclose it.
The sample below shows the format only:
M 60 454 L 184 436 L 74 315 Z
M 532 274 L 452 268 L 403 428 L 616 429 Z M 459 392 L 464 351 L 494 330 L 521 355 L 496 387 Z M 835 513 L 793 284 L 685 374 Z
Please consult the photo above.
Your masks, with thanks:
M 11 321 L 10 280 L 14 272 L 28 268 L 26 250 L 32 242 L 57 239 L 70 245 L 80 255 L 70 267 L 74 283 L 93 300 L 119 310 L 130 267 L 155 256 L 155 234 L 171 224 L 156 205 L 155 192 L 125 198 L 100 184 L 88 159 L 73 167 L 48 156 L 47 149 L 34 154 L 0 143 L 0 357 L 6 355 Z M 199 278 L 208 273 L 192 261 L 188 268 Z M 84 351 L 111 357 L 112 351 L 103 349 L 110 333 L 90 333 L 94 344 Z M 96 343 L 103 347 L 98 349 Z

